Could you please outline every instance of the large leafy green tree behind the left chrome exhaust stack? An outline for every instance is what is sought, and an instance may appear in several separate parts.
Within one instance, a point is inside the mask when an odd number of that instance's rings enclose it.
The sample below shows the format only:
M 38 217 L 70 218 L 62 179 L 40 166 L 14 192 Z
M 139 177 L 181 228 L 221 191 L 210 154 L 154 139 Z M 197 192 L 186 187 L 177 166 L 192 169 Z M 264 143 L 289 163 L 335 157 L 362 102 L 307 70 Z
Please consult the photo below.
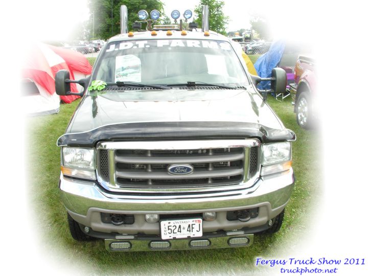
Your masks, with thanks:
M 131 30 L 134 21 L 139 20 L 137 13 L 146 10 L 158 10 L 161 17 L 164 4 L 159 0 L 89 0 L 90 11 L 89 29 L 94 38 L 108 39 L 120 34 L 120 6 L 125 5 L 128 9 L 128 30 Z

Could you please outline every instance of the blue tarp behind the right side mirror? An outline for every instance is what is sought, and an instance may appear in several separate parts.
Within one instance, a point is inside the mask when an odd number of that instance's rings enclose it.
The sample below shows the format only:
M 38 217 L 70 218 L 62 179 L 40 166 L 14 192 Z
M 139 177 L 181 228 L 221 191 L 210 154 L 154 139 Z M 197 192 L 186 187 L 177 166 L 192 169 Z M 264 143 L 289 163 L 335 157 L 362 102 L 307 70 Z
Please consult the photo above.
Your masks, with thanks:
M 260 56 L 254 64 L 258 76 L 260 76 L 261 78 L 270 78 L 271 71 L 279 64 L 284 50 L 284 41 L 278 40 L 272 42 L 268 52 Z M 260 84 L 258 84 L 259 89 L 270 89 L 270 86 L 270 81 L 261 81 Z

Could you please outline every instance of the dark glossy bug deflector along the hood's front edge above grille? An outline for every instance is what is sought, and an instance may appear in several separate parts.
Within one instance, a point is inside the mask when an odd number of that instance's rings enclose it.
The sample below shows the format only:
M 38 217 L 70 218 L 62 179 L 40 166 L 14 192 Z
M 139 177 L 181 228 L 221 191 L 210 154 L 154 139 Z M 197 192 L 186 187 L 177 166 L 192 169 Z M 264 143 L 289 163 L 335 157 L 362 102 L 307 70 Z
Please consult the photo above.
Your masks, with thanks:
M 289 129 L 242 122 L 148 122 L 102 126 L 59 137 L 58 146 L 95 147 L 102 141 L 257 138 L 262 143 L 295 141 Z

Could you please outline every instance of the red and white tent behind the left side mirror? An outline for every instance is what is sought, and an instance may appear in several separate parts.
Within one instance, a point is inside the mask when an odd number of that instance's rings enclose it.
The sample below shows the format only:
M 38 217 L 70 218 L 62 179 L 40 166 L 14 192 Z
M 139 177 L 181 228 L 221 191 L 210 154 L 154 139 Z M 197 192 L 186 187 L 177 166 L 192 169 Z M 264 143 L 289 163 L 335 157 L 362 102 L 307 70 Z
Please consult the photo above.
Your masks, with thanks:
M 30 45 L 22 65 L 22 83 L 32 82 L 38 91 L 34 88 L 32 93 L 22 97 L 26 113 L 56 113 L 59 110 L 60 100 L 71 103 L 79 98 L 78 96 L 60 96 L 59 98 L 56 95 L 55 75 L 61 69 L 68 70 L 71 79 L 84 78 L 92 71 L 88 60 L 80 53 L 43 43 Z M 78 86 L 71 83 L 71 90 L 81 91 L 82 87 L 79 84 Z

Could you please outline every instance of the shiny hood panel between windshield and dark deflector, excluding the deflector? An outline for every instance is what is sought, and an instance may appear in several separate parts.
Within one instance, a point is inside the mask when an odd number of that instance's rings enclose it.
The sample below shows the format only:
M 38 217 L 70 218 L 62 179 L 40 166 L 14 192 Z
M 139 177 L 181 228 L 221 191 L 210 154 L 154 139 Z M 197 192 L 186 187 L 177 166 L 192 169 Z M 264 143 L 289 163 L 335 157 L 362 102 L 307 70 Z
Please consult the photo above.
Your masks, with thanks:
M 157 122 L 243 122 L 283 128 L 251 86 L 246 89 L 106 89 L 83 99 L 66 133 Z

